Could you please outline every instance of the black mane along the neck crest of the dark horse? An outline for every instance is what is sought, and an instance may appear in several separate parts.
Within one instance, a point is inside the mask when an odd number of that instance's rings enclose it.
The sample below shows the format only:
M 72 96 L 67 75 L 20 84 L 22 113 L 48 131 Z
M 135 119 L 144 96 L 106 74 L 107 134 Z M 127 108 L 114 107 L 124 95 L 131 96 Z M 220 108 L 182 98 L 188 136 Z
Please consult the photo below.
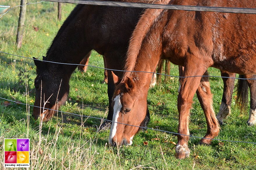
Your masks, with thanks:
M 81 10 L 81 8 L 83 8 L 83 4 L 78 4 L 70 13 L 70 15 L 67 17 L 67 19 L 63 22 L 63 24 L 61 25 L 61 28 L 58 30 L 58 33 L 56 34 L 55 38 L 53 39 L 53 41 L 51 42 L 51 46 L 52 44 L 54 44 L 54 42 L 59 38 L 59 36 L 62 34 L 62 32 L 65 30 L 65 28 L 67 28 L 67 26 L 69 25 L 70 21 L 74 18 L 74 16 L 77 15 L 77 13 Z M 51 50 L 51 46 L 48 48 L 46 56 L 48 56 L 50 50 Z

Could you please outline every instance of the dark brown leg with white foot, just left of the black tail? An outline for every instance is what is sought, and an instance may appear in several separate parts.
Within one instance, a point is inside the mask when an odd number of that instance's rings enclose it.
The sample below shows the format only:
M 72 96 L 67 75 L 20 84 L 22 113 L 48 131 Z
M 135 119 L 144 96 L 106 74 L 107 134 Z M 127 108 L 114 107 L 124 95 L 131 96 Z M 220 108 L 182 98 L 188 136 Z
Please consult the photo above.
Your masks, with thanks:
M 231 101 L 232 101 L 232 94 L 234 91 L 234 78 L 224 78 L 224 77 L 235 77 L 235 73 L 225 72 L 221 70 L 221 76 L 223 77 L 223 96 L 221 100 L 221 106 L 219 109 L 219 113 L 216 116 L 220 125 L 223 125 L 223 120 L 231 113 Z

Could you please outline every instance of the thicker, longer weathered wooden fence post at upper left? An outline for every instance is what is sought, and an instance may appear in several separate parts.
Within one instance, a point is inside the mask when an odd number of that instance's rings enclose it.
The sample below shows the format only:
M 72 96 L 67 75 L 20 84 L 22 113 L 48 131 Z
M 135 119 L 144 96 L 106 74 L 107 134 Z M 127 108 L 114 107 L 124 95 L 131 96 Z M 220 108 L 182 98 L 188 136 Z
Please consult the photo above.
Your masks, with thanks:
M 24 31 L 24 23 L 25 23 L 25 15 L 26 15 L 26 3 L 27 0 L 20 1 L 20 12 L 19 12 L 19 23 L 17 29 L 17 48 L 20 48 L 22 45 L 23 31 Z

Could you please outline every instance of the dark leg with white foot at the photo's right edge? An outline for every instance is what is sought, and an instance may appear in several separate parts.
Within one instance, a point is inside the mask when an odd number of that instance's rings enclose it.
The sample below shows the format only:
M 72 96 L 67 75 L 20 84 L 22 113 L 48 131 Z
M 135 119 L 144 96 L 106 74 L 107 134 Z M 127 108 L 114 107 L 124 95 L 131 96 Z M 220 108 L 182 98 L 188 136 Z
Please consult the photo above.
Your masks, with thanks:
M 256 78 L 256 75 L 245 75 L 246 78 Z M 256 80 L 247 80 L 250 88 L 250 115 L 247 120 L 249 126 L 253 126 L 256 123 Z

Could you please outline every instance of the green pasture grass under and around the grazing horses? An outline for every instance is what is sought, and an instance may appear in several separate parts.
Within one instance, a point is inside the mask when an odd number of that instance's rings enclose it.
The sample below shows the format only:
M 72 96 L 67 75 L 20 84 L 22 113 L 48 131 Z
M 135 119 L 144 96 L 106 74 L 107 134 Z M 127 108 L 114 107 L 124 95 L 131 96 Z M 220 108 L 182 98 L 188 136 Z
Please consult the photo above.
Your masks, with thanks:
M 37 1 L 31 1 L 37 2 Z M 2 5 L 19 5 L 19 0 L 2 0 Z M 16 30 L 19 8 L 10 10 L 0 19 L 0 49 L 11 54 L 42 59 L 58 29 L 74 8 L 63 4 L 63 20 L 57 20 L 57 3 L 43 2 L 27 6 L 24 39 L 21 49 L 16 48 Z M 34 27 L 38 27 L 36 32 Z M 16 60 L 16 62 L 14 61 Z M 104 67 L 102 56 L 93 52 L 89 65 Z M 35 65 L 33 60 L 0 53 L 0 97 L 19 100 L 33 105 L 35 91 Z M 104 70 L 89 67 L 81 74 L 76 70 L 70 80 L 70 100 L 61 110 L 74 114 L 103 118 L 108 107 L 107 85 L 102 84 Z M 210 75 L 220 76 L 219 70 L 209 68 Z M 171 65 L 171 74 L 177 76 L 177 66 Z M 217 113 L 222 92 L 221 78 L 210 78 Z M 27 87 L 27 88 L 26 88 Z M 77 89 L 77 90 L 76 90 Z M 177 132 L 178 78 L 171 78 L 149 90 L 148 107 L 151 114 L 150 128 Z M 30 91 L 29 96 L 26 92 Z M 256 145 L 214 140 L 211 146 L 198 145 L 198 138 L 190 138 L 190 158 L 177 160 L 173 134 L 148 129 L 139 132 L 129 147 L 109 147 L 109 131 L 97 132 L 101 121 L 94 118 L 65 114 L 55 116 L 50 122 L 39 122 L 31 117 L 26 105 L 11 102 L 3 106 L 0 99 L 0 162 L 3 169 L 3 139 L 30 138 L 30 169 L 255 169 Z M 29 117 L 28 117 L 29 116 Z M 63 117 L 63 119 L 62 119 Z M 232 102 L 232 114 L 221 126 L 218 139 L 256 142 L 256 127 L 248 127 L 248 114 L 240 113 Z M 207 125 L 200 104 L 194 96 L 190 117 L 190 133 L 202 137 Z M 156 140 L 157 139 L 157 140 Z M 144 142 L 148 142 L 144 145 Z M 42 154 L 39 153 L 42 149 Z M 24 168 L 25 169 L 25 168 Z

